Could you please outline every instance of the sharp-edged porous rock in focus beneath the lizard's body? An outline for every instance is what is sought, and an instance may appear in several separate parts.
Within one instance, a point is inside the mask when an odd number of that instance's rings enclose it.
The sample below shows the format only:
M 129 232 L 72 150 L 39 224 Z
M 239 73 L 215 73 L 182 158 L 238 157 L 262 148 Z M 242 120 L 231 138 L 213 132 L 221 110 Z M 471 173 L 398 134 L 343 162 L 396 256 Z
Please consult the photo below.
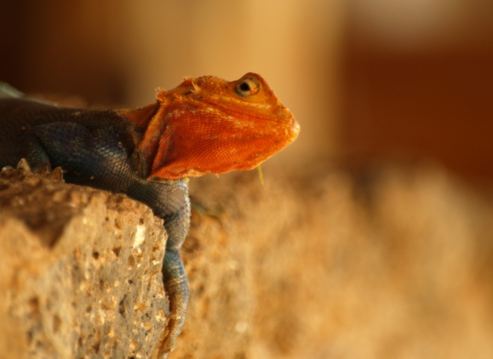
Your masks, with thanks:
M 0 173 L 0 357 L 148 358 L 166 234 L 123 195 Z

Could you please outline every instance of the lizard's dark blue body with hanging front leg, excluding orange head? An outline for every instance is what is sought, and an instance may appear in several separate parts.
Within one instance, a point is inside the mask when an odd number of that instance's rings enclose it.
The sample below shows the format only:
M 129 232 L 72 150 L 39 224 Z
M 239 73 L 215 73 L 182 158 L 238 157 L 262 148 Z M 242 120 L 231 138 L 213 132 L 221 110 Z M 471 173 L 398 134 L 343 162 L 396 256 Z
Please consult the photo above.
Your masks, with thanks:
M 139 130 L 113 110 L 59 108 L 28 99 L 0 98 L 0 168 L 25 158 L 31 171 L 61 167 L 68 183 L 125 193 L 164 219 L 168 234 L 163 278 L 172 316 L 168 344 L 175 347 L 188 304 L 188 280 L 179 249 L 190 226 L 186 180 L 147 179 L 132 155 Z

